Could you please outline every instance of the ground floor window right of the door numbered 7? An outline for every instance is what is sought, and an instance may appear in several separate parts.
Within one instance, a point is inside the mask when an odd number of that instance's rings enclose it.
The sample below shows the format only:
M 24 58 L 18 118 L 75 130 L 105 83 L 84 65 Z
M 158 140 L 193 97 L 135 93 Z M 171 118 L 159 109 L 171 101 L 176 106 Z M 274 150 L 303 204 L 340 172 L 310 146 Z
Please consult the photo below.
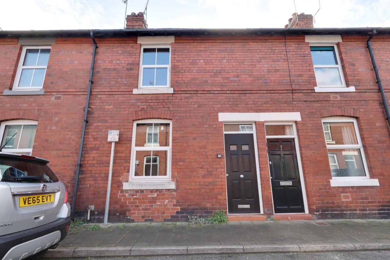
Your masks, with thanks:
M 364 177 L 368 171 L 355 118 L 323 119 L 323 130 L 333 178 Z

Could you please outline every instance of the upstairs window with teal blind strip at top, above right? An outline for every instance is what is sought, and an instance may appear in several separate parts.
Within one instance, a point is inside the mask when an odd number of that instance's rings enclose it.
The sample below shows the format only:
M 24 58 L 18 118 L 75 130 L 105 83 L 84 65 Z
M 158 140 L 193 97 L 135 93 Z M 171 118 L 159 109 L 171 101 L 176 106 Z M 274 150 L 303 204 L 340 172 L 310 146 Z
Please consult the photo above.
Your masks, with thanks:
M 337 47 L 310 46 L 318 87 L 346 87 Z

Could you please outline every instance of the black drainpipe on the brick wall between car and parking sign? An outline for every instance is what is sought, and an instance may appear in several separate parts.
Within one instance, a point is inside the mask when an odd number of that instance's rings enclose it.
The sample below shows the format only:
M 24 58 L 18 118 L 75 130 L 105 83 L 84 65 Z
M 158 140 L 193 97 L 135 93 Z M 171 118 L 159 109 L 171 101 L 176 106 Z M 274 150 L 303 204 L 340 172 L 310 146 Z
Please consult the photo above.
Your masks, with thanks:
M 91 34 L 92 41 L 94 42 L 94 50 L 92 52 L 91 70 L 89 72 L 89 85 L 88 85 L 88 93 L 87 93 L 87 102 L 85 103 L 85 108 L 84 108 L 83 130 L 81 132 L 80 148 L 79 148 L 79 152 L 78 152 L 76 178 L 74 179 L 73 200 L 72 200 L 72 210 L 71 210 L 71 219 L 72 220 L 74 218 L 74 210 L 76 208 L 77 186 L 78 186 L 78 177 L 80 175 L 81 157 L 82 157 L 82 153 L 83 153 L 85 127 L 87 126 L 87 123 L 88 123 L 87 117 L 88 117 L 89 97 L 91 95 L 92 83 L 94 83 L 92 81 L 92 74 L 94 72 L 96 49 L 98 48 L 96 41 L 95 41 L 94 32 L 91 31 L 90 34 Z

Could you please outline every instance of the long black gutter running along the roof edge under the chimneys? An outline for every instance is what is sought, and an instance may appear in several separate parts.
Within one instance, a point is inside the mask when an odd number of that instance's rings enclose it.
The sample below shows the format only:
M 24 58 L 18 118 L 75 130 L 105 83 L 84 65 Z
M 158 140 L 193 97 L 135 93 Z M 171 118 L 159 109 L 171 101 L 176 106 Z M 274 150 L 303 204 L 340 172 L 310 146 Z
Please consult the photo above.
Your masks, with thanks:
M 358 28 L 242 28 L 242 29 L 207 29 L 207 28 L 161 28 L 161 29 L 97 29 L 95 37 L 111 36 L 168 36 L 168 35 L 232 35 L 232 34 L 368 34 L 390 33 L 390 27 L 358 27 Z M 89 36 L 91 30 L 30 30 L 0 31 L 0 37 L 65 37 Z

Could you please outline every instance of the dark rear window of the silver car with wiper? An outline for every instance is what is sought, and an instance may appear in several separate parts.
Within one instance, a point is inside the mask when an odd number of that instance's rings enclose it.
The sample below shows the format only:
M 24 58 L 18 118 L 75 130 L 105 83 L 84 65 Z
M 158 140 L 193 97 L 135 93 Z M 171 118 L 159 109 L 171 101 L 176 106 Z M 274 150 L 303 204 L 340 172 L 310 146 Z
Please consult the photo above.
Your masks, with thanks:
M 23 180 L 25 176 L 39 176 L 40 180 Z M 19 178 L 19 179 L 18 179 Z M 43 162 L 23 158 L 0 157 L 0 181 L 2 182 L 58 182 L 53 171 Z

